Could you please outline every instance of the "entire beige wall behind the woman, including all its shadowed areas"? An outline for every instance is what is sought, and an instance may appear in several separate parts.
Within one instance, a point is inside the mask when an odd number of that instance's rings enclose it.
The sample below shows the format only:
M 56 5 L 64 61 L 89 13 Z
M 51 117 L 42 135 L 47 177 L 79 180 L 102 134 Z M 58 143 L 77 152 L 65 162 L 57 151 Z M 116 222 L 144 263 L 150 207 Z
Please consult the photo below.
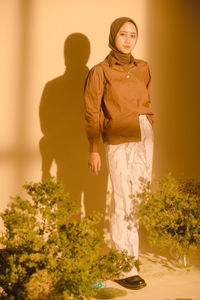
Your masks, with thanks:
M 88 211 L 104 210 L 107 171 L 105 162 L 98 178 L 87 170 L 82 87 L 88 68 L 107 55 L 109 26 L 120 16 L 138 24 L 133 54 L 152 70 L 153 176 L 171 170 L 199 178 L 197 6 L 194 0 L 0 0 L 1 211 L 10 196 L 23 194 L 26 181 L 49 171 L 72 197 L 84 189 Z

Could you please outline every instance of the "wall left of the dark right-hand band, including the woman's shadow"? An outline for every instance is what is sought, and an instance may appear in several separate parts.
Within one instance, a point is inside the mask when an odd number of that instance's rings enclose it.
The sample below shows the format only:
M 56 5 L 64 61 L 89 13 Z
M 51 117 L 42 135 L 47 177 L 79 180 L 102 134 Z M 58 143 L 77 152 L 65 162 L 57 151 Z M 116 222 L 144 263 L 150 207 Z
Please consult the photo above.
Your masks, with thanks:
M 1 211 L 26 181 L 49 173 L 73 199 L 85 192 L 87 212 L 104 211 L 107 171 L 105 161 L 98 178 L 87 168 L 82 91 L 109 51 L 111 22 L 127 15 L 145 58 L 145 0 L 0 0 Z

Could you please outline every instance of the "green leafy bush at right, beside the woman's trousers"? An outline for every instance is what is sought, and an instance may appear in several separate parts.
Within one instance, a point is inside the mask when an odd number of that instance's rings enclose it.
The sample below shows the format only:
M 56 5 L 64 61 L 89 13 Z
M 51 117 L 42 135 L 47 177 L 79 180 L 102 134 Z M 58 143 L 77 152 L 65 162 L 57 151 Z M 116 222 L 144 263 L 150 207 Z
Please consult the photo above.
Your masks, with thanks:
M 154 184 L 140 181 L 141 191 L 132 195 L 131 218 L 140 219 L 150 243 L 172 246 L 180 255 L 188 254 L 190 246 L 200 247 L 200 184 L 177 181 L 171 173 Z

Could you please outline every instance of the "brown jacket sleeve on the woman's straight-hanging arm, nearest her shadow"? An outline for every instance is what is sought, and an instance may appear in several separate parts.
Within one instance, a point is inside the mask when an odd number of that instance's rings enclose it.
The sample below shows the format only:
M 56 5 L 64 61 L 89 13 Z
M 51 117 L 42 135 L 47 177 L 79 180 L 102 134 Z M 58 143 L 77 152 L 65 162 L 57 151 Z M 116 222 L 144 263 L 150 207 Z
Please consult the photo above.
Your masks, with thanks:
M 98 152 L 103 92 L 103 69 L 97 65 L 89 71 L 84 87 L 85 127 L 90 144 L 90 152 Z

